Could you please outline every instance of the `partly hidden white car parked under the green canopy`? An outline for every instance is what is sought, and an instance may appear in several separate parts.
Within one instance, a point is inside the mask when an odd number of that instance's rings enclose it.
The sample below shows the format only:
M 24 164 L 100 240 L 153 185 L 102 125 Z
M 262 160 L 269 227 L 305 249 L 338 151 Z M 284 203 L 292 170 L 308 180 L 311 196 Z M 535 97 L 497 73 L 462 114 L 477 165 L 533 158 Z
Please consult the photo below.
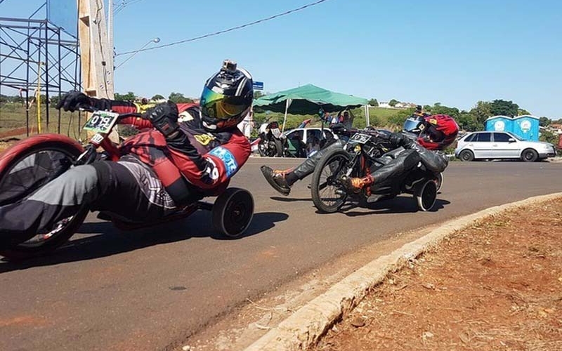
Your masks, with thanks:
M 311 157 L 320 150 L 325 140 L 338 138 L 329 128 L 320 127 L 294 128 L 284 134 L 287 137 L 287 154 L 298 155 L 296 157 Z

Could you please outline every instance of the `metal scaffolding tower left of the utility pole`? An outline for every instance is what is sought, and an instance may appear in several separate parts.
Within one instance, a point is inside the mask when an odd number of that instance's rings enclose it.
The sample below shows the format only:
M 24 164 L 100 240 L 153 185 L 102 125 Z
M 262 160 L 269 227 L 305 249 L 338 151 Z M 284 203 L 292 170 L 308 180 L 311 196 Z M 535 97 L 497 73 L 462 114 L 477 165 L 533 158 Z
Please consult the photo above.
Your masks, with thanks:
M 0 4 L 4 1 L 0 0 Z M 80 90 L 78 38 L 48 19 L 47 5 L 48 0 L 45 0 L 28 18 L 0 17 L 0 95 L 19 93 L 27 102 L 27 135 L 30 133 L 30 101 L 34 94 L 46 98 L 48 126 L 51 98 L 60 97 L 66 91 Z M 58 112 L 58 133 L 60 119 Z

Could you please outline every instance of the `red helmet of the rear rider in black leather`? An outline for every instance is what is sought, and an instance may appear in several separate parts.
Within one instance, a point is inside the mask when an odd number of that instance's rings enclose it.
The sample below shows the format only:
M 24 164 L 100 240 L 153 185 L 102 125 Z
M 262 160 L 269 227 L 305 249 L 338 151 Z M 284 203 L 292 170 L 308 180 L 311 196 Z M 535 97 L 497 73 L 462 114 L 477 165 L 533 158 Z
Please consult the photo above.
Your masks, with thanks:
M 419 145 L 428 150 L 444 150 L 457 138 L 459 126 L 455 119 L 447 114 L 434 114 L 423 118 L 424 124 L 417 138 Z

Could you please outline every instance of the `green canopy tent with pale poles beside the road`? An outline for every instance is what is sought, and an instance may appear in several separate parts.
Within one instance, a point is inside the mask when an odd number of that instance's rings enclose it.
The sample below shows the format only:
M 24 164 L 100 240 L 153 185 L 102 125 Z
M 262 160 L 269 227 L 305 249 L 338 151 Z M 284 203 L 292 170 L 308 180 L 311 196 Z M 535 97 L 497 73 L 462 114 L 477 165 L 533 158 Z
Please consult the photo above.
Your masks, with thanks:
M 282 131 L 285 131 L 285 122 L 289 107 L 292 114 L 317 114 L 320 107 L 326 112 L 337 112 L 346 108 L 355 108 L 367 105 L 367 99 L 353 95 L 334 93 L 313 84 L 306 84 L 298 88 L 280 91 L 262 96 L 254 100 L 254 107 L 258 110 L 272 112 L 285 112 Z M 369 116 L 367 110 L 367 125 Z

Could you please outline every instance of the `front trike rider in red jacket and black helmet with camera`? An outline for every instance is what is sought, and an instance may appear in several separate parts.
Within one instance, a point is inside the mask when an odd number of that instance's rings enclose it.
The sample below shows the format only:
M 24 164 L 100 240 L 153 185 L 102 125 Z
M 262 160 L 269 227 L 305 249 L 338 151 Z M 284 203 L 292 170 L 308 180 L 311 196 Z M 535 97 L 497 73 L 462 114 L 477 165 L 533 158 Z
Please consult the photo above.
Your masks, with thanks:
M 185 204 L 220 194 L 250 154 L 237 124 L 248 114 L 254 91 L 250 74 L 226 60 L 204 85 L 200 105 L 167 102 L 126 123 L 149 128 L 122 143 L 119 161 L 70 168 L 30 197 L 0 206 L 0 247 L 30 239 L 81 206 L 131 221 L 150 222 Z M 132 102 L 71 92 L 65 111 L 90 106 L 120 114 L 138 112 Z M 152 128 L 154 127 L 154 128 Z

